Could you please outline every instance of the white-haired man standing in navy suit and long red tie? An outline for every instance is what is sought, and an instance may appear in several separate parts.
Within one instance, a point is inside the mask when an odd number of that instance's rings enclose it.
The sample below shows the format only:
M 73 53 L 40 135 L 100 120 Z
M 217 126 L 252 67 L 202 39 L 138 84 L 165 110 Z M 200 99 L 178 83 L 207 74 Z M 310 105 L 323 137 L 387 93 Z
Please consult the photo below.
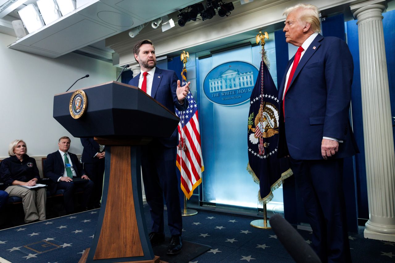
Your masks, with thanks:
M 278 157 L 289 155 L 322 262 L 351 262 L 342 188 L 343 158 L 358 147 L 348 119 L 353 60 L 347 44 L 323 37 L 318 8 L 286 9 L 286 42 L 298 48 L 279 87 Z

